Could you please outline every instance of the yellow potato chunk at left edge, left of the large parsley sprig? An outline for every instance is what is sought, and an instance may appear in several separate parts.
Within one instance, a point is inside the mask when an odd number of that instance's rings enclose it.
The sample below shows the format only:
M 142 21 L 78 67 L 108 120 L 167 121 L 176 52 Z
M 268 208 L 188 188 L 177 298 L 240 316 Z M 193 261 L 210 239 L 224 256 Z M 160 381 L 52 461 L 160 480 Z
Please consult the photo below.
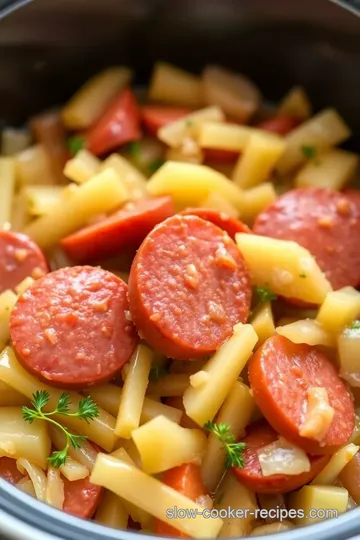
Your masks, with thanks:
M 0 408 L 0 456 L 25 458 L 47 468 L 51 442 L 42 420 L 24 420 L 20 407 Z

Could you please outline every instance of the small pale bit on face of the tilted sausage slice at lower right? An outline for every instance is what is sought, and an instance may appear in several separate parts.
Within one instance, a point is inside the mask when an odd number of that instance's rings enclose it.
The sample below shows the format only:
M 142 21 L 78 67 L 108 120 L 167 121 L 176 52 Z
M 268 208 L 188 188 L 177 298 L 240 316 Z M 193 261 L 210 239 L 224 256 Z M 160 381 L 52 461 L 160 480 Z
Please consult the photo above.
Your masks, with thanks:
M 329 405 L 325 388 L 313 386 L 307 392 L 305 421 L 300 427 L 300 435 L 322 441 L 334 418 L 334 409 Z

